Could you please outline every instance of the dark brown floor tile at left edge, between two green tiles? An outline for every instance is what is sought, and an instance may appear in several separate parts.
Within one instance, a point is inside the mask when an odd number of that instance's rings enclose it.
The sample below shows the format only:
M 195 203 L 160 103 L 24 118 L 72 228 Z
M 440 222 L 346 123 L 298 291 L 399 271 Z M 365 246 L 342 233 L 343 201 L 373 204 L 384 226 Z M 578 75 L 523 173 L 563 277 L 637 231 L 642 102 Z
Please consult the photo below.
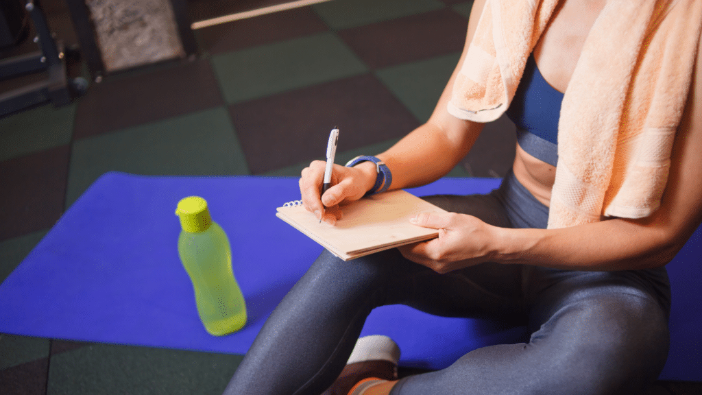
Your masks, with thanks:
M 63 213 L 69 146 L 0 162 L 0 240 L 51 228 Z

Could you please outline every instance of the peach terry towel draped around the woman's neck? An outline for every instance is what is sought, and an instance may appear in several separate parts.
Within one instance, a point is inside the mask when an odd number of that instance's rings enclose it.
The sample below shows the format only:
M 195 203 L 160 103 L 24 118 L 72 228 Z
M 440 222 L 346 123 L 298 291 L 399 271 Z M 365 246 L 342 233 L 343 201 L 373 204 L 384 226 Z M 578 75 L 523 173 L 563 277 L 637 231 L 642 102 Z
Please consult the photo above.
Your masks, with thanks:
M 448 110 L 507 110 L 557 0 L 488 0 Z M 700 0 L 610 0 L 565 92 L 548 228 L 658 209 L 702 29 Z

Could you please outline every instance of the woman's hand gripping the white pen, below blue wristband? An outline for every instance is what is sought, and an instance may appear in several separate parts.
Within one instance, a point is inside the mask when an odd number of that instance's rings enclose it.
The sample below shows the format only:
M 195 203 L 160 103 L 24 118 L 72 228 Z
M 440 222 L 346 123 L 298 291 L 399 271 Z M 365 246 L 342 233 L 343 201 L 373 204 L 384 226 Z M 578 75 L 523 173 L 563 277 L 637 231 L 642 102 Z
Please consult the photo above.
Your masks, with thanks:
M 376 167 L 372 162 L 362 162 L 355 167 L 334 164 L 331 173 L 331 188 L 322 196 L 326 162 L 315 160 L 305 167 L 300 177 L 300 194 L 307 211 L 317 219 L 334 225 L 343 213 L 340 207 L 359 200 L 373 188 L 376 182 Z

